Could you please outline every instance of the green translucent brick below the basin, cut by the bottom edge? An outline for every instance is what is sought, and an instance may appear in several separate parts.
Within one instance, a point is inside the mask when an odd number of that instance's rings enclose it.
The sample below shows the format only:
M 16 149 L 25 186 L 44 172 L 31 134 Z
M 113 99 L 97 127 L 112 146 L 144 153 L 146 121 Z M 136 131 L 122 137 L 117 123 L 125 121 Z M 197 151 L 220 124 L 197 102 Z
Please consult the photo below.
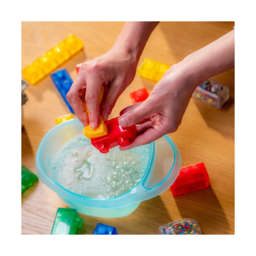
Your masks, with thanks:
M 75 236 L 81 228 L 83 219 L 79 218 L 76 209 L 59 208 L 52 227 L 52 236 Z

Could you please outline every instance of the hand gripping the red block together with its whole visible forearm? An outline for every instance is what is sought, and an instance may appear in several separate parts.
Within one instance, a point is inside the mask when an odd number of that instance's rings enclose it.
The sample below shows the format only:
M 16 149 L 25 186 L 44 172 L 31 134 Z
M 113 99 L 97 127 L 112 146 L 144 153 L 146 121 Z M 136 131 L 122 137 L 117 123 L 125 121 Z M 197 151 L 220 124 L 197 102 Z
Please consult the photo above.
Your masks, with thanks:
M 123 109 L 119 119 L 122 127 L 141 125 L 137 126 L 135 140 L 120 150 L 142 146 L 174 133 L 195 88 L 206 79 L 235 67 L 235 45 L 235 31 L 232 30 L 171 66 L 147 100 Z

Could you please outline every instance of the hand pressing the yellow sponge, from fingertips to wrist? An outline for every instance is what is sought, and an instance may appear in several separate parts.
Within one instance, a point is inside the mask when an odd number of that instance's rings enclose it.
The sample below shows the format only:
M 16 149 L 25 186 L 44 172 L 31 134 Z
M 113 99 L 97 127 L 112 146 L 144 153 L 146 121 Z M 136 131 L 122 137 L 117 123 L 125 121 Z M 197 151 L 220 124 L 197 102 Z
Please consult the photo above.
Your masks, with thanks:
M 90 121 L 91 128 L 97 128 L 100 123 L 100 114 L 104 122 L 108 120 L 117 99 L 133 81 L 136 67 L 136 57 L 118 47 L 112 47 L 104 55 L 82 63 L 66 98 L 84 126 L 89 125 Z M 102 85 L 108 86 L 108 89 L 99 106 L 98 98 Z M 81 99 L 84 93 L 89 119 Z

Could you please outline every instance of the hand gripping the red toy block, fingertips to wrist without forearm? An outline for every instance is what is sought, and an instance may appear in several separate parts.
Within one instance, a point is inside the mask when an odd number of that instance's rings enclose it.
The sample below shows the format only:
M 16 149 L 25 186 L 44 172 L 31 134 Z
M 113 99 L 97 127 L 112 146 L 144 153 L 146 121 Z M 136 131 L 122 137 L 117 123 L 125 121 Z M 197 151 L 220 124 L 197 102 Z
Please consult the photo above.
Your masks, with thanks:
M 194 88 L 198 85 L 184 75 L 183 63 L 171 66 L 161 81 L 144 102 L 133 104 L 120 112 L 119 124 L 137 126 L 137 137 L 127 147 L 128 150 L 157 140 L 167 133 L 174 133 L 182 120 Z

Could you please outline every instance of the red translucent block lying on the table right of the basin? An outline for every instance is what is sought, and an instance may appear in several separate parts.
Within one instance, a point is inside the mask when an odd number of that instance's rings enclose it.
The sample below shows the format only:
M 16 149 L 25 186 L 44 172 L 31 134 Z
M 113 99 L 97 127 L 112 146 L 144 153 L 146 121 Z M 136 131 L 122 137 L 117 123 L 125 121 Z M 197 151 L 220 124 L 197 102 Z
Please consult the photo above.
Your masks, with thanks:
M 177 196 L 208 188 L 209 185 L 209 175 L 204 163 L 199 163 L 180 169 L 180 174 L 171 185 L 171 192 Z

